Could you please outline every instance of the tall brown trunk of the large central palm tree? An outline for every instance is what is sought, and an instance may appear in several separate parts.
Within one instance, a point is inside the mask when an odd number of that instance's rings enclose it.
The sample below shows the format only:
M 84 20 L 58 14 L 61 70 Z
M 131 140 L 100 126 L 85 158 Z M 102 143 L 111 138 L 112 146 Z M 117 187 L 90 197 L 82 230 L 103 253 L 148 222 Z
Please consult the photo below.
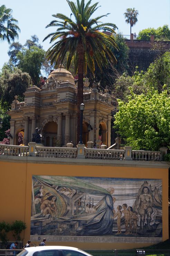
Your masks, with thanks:
M 80 105 L 83 103 L 84 49 L 79 46 L 78 53 L 78 85 L 77 85 L 77 143 L 80 140 Z

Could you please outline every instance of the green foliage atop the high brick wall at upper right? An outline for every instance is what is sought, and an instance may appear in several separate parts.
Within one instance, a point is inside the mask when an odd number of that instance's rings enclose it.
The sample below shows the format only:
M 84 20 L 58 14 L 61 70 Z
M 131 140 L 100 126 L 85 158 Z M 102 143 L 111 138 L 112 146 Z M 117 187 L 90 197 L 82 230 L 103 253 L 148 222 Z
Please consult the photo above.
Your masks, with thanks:
M 168 25 L 158 28 L 145 28 L 139 31 L 138 40 L 150 41 L 150 36 L 154 35 L 158 41 L 169 41 L 170 40 L 170 29 Z

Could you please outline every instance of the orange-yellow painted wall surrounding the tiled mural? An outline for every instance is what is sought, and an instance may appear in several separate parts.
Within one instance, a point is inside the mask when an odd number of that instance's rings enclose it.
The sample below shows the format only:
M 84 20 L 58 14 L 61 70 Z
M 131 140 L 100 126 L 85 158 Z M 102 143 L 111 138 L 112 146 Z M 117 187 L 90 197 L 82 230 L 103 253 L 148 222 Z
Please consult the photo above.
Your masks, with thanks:
M 50 164 L 50 163 L 19 163 L 0 161 L 3 174 L 1 179 L 1 211 L 0 221 L 25 221 L 24 243 L 30 238 L 31 188 L 32 175 L 63 175 L 63 176 L 93 176 L 133 179 L 162 179 L 162 225 L 163 241 L 168 239 L 168 168 L 137 166 L 104 166 Z M 2 176 L 1 176 L 2 177 Z M 12 238 L 11 238 L 12 239 Z M 43 237 L 41 237 L 43 239 Z M 38 245 L 39 241 L 31 241 Z M 123 249 L 148 246 L 148 243 L 86 243 L 86 242 L 48 242 L 47 245 L 66 245 L 81 249 Z

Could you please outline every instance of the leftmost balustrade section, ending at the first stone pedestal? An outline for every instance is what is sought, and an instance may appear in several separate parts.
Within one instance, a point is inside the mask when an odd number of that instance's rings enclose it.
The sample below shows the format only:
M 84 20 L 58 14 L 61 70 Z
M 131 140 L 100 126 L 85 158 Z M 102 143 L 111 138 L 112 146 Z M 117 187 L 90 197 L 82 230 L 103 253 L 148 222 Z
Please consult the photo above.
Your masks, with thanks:
M 29 147 L 0 144 L 0 154 L 7 156 L 28 156 Z

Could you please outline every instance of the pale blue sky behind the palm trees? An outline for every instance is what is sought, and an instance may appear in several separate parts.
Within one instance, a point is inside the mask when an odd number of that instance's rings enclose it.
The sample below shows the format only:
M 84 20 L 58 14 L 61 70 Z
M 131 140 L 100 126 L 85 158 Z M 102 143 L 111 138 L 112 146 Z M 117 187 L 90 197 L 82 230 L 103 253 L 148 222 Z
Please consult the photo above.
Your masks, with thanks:
M 92 0 L 92 3 L 95 2 L 97 1 Z M 101 7 L 97 9 L 94 17 L 110 13 L 101 21 L 115 23 L 119 28 L 118 32 L 124 35 L 130 34 L 130 25 L 125 23 L 123 15 L 127 8 L 134 7 L 139 11 L 138 23 L 132 28 L 132 33 L 136 32 L 138 35 L 139 31 L 144 28 L 158 28 L 164 24 L 168 24 L 170 27 L 170 0 L 98 0 L 98 2 Z M 42 41 L 48 33 L 53 31 L 51 28 L 45 28 L 53 20 L 52 15 L 63 13 L 70 16 L 71 13 L 66 0 L 0 1 L 0 6 L 3 4 L 7 8 L 11 8 L 13 17 L 18 19 L 21 33 L 19 33 L 19 39 L 16 41 L 25 44 L 31 35 L 36 34 L 45 50 L 50 47 L 50 44 L 48 40 Z M 7 42 L 0 42 L 0 69 L 9 60 L 8 48 Z

